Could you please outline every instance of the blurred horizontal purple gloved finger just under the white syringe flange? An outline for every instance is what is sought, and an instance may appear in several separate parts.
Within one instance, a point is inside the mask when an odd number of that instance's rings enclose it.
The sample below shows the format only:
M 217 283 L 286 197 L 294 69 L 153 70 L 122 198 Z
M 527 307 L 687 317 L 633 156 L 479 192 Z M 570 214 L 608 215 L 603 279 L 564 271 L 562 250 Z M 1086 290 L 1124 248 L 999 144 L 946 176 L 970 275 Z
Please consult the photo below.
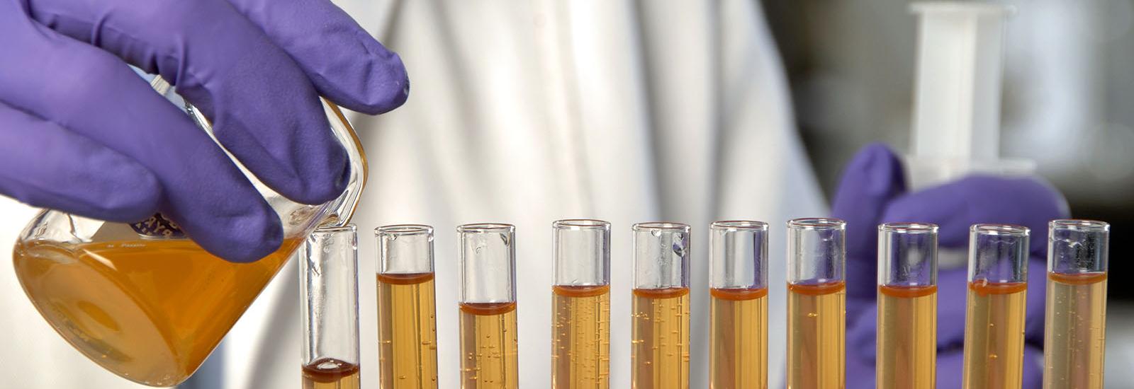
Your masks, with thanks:
M 978 223 L 1018 224 L 1032 230 L 1032 254 L 1047 248 L 1048 222 L 1067 217 L 1067 201 L 1035 178 L 968 176 L 902 196 L 886 209 L 883 222 L 926 222 L 940 226 L 938 244 L 963 248 Z

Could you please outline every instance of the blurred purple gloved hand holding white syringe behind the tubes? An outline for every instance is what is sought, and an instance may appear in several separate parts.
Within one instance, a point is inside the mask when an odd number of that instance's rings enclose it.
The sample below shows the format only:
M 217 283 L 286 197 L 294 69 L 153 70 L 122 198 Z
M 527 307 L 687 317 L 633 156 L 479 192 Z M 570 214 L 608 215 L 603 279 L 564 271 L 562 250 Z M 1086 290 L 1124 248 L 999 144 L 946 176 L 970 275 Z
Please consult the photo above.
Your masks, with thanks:
M 1040 388 L 1043 366 L 1043 305 L 1047 223 L 1067 217 L 1059 192 L 1035 179 L 970 176 L 907 192 L 902 163 L 886 146 L 863 148 L 843 174 L 832 205 L 847 222 L 847 388 L 874 388 L 878 306 L 878 225 L 934 223 L 938 244 L 966 250 L 978 223 L 1019 224 L 1032 230 L 1025 323 L 1024 388 Z M 966 268 L 938 274 L 939 388 L 960 388 L 965 342 Z

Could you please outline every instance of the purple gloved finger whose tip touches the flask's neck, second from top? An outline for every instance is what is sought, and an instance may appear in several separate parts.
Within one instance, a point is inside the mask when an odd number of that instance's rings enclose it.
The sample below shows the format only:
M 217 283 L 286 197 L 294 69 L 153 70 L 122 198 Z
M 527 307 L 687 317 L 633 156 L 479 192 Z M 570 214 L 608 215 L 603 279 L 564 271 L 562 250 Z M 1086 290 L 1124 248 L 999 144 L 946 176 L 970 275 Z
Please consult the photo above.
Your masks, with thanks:
M 311 81 L 225 0 L 28 3 L 40 23 L 176 85 L 217 139 L 280 194 L 321 204 L 346 188 L 346 150 Z

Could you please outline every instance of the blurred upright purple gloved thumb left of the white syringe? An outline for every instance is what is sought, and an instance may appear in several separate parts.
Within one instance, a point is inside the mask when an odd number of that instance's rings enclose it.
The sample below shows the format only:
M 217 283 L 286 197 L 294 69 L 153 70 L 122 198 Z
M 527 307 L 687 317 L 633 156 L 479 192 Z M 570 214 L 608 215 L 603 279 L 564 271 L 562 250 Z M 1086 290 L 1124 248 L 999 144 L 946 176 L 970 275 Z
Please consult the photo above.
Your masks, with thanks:
M 831 205 L 831 216 L 847 222 L 846 277 L 849 280 L 849 297 L 874 296 L 879 219 L 886 205 L 905 188 L 902 162 L 882 144 L 864 147 L 843 172 Z

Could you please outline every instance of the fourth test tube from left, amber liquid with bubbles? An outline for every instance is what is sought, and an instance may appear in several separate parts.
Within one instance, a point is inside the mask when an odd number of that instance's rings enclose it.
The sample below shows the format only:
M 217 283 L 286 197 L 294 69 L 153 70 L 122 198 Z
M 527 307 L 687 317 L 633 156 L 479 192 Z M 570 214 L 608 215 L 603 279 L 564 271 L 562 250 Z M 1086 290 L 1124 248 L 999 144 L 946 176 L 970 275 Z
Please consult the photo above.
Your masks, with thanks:
M 610 223 L 551 224 L 551 388 L 610 387 Z

